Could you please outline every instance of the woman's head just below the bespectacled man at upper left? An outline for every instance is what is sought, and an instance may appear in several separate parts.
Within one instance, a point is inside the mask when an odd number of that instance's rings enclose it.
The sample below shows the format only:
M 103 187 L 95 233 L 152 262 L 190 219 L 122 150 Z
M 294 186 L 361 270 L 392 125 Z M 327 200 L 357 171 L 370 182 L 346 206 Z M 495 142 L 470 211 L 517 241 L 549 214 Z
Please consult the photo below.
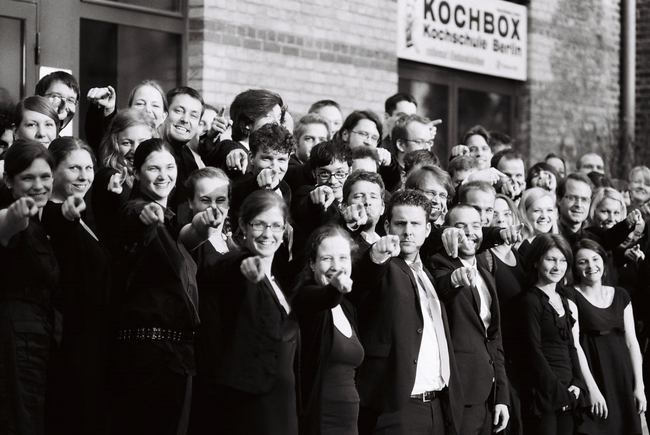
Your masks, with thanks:
M 14 138 L 35 140 L 45 148 L 59 136 L 61 123 L 45 97 L 27 97 L 14 110 Z

